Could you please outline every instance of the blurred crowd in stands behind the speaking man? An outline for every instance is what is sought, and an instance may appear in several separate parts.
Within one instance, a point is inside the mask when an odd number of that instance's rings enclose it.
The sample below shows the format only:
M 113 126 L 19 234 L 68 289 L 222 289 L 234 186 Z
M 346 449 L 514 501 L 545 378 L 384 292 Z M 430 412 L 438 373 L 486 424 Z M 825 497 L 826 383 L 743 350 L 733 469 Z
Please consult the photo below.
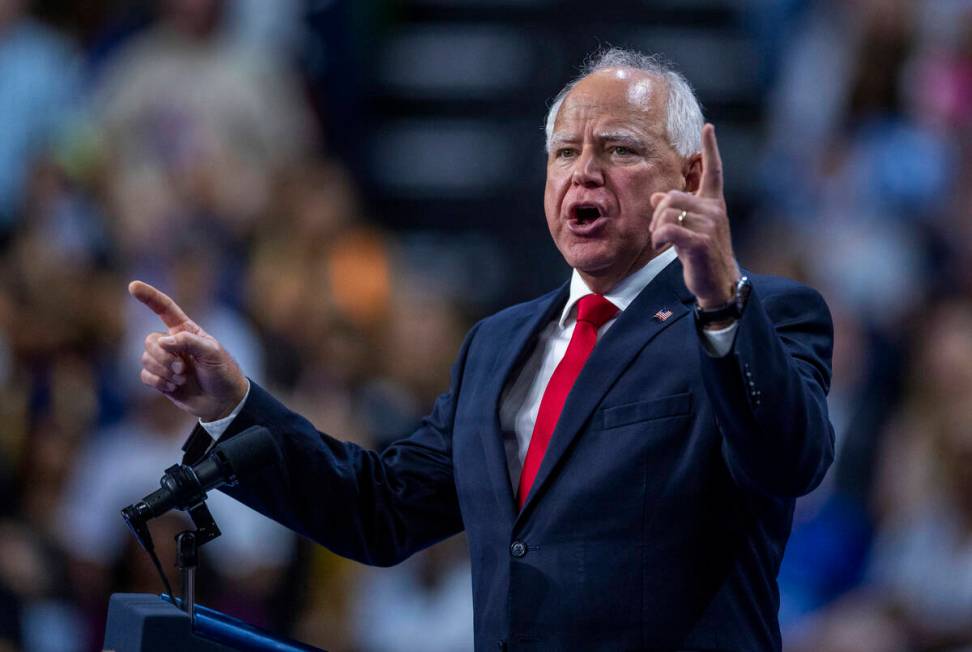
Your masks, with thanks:
M 476 319 L 566 280 L 541 123 L 605 45 L 688 76 L 741 263 L 833 311 L 838 458 L 798 502 L 786 649 L 972 649 L 972 1 L 0 0 L 0 651 L 99 650 L 112 592 L 161 591 L 119 510 L 192 424 L 138 381 L 159 325 L 128 281 L 387 445 Z M 204 604 L 471 648 L 462 537 L 368 569 L 210 502 Z M 173 580 L 185 527 L 152 525 Z

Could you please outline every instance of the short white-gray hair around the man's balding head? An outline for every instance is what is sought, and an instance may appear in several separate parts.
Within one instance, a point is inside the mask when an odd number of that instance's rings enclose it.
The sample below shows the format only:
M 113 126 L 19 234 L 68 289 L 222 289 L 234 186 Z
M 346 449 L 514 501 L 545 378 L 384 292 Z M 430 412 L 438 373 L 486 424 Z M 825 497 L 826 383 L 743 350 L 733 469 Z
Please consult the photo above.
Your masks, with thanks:
M 577 82 L 600 70 L 608 68 L 633 68 L 663 78 L 668 84 L 666 105 L 668 141 L 681 156 L 691 156 L 702 149 L 702 107 L 688 80 L 671 65 L 656 55 L 647 55 L 635 50 L 610 48 L 595 52 L 587 58 L 581 73 L 564 86 L 554 98 L 544 128 L 547 133 L 547 152 L 550 152 L 550 139 L 553 137 L 554 122 L 560 112 L 564 98 L 573 90 Z

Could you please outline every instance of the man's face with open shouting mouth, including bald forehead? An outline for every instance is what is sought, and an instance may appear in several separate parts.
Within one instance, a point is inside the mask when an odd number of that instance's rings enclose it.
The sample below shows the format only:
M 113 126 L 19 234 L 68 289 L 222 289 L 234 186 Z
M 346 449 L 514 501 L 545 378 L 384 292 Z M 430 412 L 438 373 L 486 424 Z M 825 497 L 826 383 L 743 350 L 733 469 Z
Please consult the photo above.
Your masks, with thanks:
M 554 243 L 591 289 L 607 292 L 654 255 L 653 192 L 685 190 L 697 158 L 668 142 L 663 79 L 610 68 L 561 104 L 547 156 L 544 212 Z M 694 188 L 688 188 L 693 190 Z

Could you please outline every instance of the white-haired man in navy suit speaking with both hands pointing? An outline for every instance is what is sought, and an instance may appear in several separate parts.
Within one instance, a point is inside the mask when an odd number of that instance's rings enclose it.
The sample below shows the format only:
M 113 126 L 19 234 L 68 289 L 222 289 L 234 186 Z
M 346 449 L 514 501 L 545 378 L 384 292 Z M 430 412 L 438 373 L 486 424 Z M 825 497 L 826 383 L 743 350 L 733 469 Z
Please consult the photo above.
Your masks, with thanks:
M 142 380 L 215 436 L 270 428 L 282 463 L 232 495 L 339 554 L 394 564 L 465 529 L 478 650 L 779 650 L 794 498 L 833 457 L 827 308 L 741 276 L 715 132 L 676 73 L 608 51 L 547 133 L 571 281 L 476 324 L 408 439 L 317 433 L 135 282 L 168 327 Z

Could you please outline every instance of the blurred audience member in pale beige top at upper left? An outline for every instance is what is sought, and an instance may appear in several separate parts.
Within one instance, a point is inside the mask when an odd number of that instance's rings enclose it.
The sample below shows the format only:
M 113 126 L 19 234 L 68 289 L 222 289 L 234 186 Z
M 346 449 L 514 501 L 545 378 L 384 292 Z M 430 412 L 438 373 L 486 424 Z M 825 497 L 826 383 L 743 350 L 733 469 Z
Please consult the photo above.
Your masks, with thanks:
M 227 38 L 224 2 L 159 7 L 115 54 L 92 106 L 117 237 L 135 258 L 164 252 L 194 222 L 212 227 L 210 246 L 238 242 L 274 175 L 313 145 L 294 76 L 272 52 Z

